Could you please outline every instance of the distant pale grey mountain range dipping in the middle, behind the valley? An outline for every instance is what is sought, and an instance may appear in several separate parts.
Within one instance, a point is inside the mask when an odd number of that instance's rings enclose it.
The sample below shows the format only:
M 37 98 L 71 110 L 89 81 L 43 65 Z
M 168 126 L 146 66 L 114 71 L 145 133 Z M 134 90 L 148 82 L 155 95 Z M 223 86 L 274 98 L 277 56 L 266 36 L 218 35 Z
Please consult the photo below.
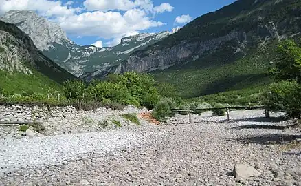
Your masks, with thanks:
M 97 48 L 93 45 L 80 46 L 70 41 L 58 24 L 39 17 L 33 11 L 13 10 L 5 13 L 1 21 L 17 25 L 32 38 L 38 50 L 76 76 L 107 72 L 112 65 L 119 65 L 131 53 L 179 30 L 175 28 L 172 32 L 137 34 L 123 38 L 113 48 Z

